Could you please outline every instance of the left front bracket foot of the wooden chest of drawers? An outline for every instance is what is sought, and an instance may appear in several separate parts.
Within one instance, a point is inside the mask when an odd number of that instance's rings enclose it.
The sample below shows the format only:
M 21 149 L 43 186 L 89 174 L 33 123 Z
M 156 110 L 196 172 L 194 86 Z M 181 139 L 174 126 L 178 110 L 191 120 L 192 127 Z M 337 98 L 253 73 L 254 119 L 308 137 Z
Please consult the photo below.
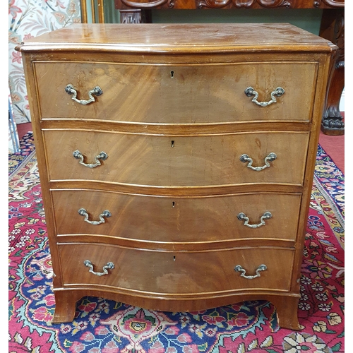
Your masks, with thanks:
M 55 313 L 52 323 L 70 323 L 76 313 L 76 302 L 81 294 L 69 290 L 55 291 Z

